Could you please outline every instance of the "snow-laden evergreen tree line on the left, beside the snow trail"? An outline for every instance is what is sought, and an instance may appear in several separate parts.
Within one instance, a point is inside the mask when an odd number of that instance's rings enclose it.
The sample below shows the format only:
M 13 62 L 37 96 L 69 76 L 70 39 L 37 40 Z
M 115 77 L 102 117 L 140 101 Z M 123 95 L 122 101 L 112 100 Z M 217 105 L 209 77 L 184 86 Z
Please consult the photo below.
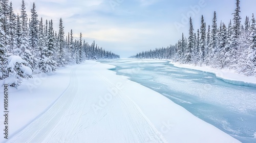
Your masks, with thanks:
M 21 12 L 15 14 L 12 2 L 0 0 L 0 84 L 17 87 L 32 74 L 48 73 L 68 64 L 84 60 L 114 59 L 119 55 L 105 51 L 95 42 L 89 44 L 73 37 L 71 30 L 65 36 L 63 21 L 58 32 L 53 21 L 38 19 L 35 3 L 28 18 L 24 0 Z

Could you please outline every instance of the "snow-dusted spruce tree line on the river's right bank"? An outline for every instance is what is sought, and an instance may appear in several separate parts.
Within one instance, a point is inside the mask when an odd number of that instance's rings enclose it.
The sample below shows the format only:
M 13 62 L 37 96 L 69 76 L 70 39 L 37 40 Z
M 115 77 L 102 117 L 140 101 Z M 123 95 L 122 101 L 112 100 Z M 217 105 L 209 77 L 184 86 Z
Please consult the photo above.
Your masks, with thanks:
M 214 12 L 212 24 L 206 25 L 201 17 L 201 27 L 194 32 L 193 22 L 189 19 L 188 38 L 182 33 L 181 39 L 168 47 L 138 53 L 131 58 L 172 59 L 175 62 L 230 68 L 236 73 L 256 76 L 256 27 L 255 18 L 246 16 L 244 24 L 240 16 L 240 0 L 236 0 L 233 19 L 226 25 L 217 25 Z

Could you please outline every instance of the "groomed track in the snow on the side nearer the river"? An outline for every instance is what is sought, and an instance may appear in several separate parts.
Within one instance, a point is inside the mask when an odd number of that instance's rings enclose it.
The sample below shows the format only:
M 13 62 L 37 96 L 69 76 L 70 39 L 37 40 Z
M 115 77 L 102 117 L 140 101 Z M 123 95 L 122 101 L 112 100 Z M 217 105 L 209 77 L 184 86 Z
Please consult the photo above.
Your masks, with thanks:
M 109 79 L 99 74 L 97 74 L 97 76 L 110 87 L 115 87 Z M 118 88 L 116 89 L 118 90 L 118 95 L 115 98 L 118 98 L 121 101 L 120 107 L 125 111 L 125 118 L 135 132 L 133 137 L 136 136 L 139 139 L 139 142 L 168 142 L 143 114 L 138 105 L 123 93 L 122 90 Z M 131 131 L 131 133 L 133 133 L 133 131 Z

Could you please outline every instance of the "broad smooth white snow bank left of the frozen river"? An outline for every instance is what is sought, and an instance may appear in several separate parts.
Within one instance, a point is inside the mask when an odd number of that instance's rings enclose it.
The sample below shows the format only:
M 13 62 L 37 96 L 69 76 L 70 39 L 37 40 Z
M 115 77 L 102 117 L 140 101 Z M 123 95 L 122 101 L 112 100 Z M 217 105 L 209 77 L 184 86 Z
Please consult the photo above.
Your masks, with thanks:
M 10 88 L 0 142 L 240 142 L 111 68 L 86 61 Z

